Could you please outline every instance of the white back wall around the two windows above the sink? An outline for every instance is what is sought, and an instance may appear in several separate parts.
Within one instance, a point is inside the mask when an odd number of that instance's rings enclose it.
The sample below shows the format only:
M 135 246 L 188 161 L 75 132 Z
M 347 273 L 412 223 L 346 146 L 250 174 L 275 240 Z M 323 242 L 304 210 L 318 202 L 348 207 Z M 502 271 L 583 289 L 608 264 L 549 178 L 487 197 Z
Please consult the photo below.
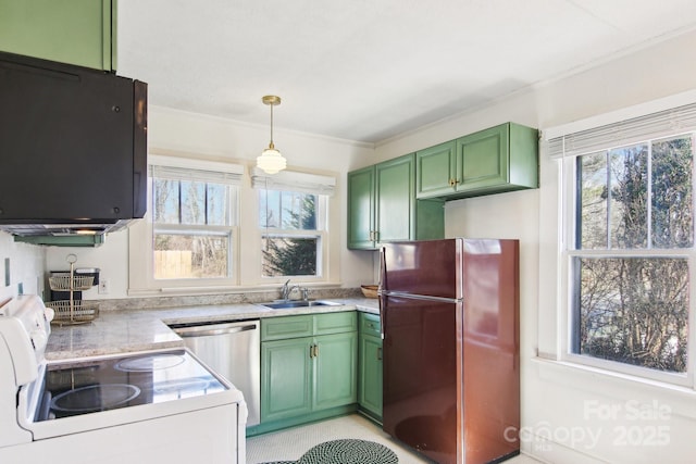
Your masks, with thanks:
M 240 124 L 219 117 L 204 116 L 165 108 L 150 106 L 148 114 L 148 147 L 150 151 L 184 154 L 192 158 L 233 161 L 252 167 L 256 158 L 268 147 L 269 126 Z M 346 243 L 347 200 L 346 173 L 374 162 L 374 148 L 348 140 L 331 139 L 308 134 L 286 131 L 274 127 L 275 146 L 288 161 L 288 168 L 331 173 L 336 176 L 335 202 L 340 209 L 337 230 L 340 234 L 340 284 L 352 288 L 364 284 L 365 275 L 372 275 L 373 255 L 369 252 L 348 251 Z M 247 168 L 247 173 L 249 170 Z M 244 246 L 244 243 L 243 243 Z M 85 299 L 127 298 L 128 234 L 125 230 L 107 235 L 105 243 L 94 249 L 48 249 L 48 268 L 66 268 L 65 256 L 77 255 L 77 266 L 99 267 L 101 277 L 109 280 L 109 294 L 98 294 L 92 288 L 83 294 Z

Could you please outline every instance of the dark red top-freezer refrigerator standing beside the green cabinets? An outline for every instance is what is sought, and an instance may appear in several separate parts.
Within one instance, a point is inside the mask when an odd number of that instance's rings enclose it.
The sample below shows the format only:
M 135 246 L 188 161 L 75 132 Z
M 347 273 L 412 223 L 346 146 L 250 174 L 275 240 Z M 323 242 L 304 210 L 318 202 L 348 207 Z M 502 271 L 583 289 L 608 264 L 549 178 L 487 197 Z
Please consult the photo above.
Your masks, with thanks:
M 385 244 L 384 430 L 440 464 L 519 454 L 519 242 Z

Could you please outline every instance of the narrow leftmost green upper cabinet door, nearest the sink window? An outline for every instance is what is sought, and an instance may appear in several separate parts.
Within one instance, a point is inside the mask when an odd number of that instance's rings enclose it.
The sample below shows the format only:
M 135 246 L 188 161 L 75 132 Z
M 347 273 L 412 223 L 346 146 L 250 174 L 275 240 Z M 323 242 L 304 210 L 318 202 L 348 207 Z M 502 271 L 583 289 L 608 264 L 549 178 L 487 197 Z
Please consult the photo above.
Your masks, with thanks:
M 374 249 L 374 166 L 348 173 L 348 248 Z

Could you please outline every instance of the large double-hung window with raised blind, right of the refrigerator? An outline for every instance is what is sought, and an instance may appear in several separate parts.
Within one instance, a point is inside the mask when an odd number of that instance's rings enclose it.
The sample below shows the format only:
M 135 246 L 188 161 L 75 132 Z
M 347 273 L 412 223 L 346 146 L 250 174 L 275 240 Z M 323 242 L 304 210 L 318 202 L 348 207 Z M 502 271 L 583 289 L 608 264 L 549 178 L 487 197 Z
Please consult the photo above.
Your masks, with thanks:
M 693 384 L 695 137 L 689 105 L 549 140 L 566 360 Z

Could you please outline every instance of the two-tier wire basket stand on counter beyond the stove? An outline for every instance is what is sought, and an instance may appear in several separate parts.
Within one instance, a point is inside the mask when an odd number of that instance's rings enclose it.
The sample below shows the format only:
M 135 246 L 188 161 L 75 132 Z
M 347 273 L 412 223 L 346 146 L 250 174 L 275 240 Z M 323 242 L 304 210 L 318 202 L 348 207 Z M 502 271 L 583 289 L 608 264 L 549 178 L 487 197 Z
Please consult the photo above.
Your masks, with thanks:
M 69 291 L 69 300 L 50 301 L 46 303 L 53 309 L 55 315 L 51 324 L 76 325 L 94 321 L 99 315 L 99 303 L 96 301 L 75 300 L 75 291 L 87 290 L 95 285 L 94 276 L 76 276 L 75 263 L 77 256 L 69 254 L 70 273 L 54 274 L 49 277 L 49 286 L 54 291 Z

